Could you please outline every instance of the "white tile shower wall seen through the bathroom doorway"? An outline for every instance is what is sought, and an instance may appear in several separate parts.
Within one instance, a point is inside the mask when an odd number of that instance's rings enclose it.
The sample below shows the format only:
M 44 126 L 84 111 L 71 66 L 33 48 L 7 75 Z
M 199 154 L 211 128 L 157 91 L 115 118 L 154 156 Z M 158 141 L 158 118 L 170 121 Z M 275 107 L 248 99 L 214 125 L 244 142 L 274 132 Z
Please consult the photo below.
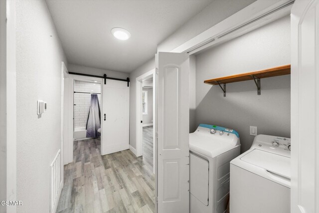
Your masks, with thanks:
M 101 93 L 101 84 L 86 81 L 75 81 L 74 91 Z M 98 94 L 98 100 L 101 109 L 100 94 Z M 86 127 L 91 105 L 91 94 L 74 93 L 74 104 L 76 104 L 76 106 L 74 106 L 74 128 Z

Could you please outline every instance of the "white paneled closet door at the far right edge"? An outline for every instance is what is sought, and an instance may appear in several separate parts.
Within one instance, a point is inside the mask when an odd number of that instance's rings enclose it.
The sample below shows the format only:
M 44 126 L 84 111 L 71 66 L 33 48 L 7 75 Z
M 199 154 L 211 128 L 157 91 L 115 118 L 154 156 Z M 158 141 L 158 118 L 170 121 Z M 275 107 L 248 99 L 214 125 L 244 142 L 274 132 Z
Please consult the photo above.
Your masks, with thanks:
M 291 14 L 291 212 L 319 212 L 319 1 Z

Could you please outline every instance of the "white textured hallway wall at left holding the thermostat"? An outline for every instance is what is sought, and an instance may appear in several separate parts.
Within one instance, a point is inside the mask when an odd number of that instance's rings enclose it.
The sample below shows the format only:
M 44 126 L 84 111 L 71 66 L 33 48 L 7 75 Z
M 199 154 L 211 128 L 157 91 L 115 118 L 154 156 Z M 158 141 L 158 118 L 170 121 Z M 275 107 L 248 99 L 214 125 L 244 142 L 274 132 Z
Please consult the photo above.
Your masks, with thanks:
M 45 1 L 16 1 L 17 212 L 49 212 L 50 164 L 61 148 L 61 61 Z M 42 116 L 38 99 L 47 101 Z

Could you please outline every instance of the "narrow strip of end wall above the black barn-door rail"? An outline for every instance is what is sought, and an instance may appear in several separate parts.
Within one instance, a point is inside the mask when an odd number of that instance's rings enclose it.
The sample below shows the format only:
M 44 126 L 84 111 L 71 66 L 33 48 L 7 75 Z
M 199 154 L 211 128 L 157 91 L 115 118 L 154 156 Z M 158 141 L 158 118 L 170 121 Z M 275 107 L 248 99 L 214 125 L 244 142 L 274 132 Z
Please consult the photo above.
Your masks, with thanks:
M 129 73 L 125 73 L 125 72 L 116 72 L 116 71 L 111 71 L 111 70 L 81 66 L 81 65 L 77 65 L 77 64 L 68 64 L 68 71 L 90 74 L 90 75 L 98 75 L 98 76 L 103 76 L 104 74 L 106 74 L 108 77 L 123 78 L 123 79 L 126 79 L 127 77 L 130 76 Z

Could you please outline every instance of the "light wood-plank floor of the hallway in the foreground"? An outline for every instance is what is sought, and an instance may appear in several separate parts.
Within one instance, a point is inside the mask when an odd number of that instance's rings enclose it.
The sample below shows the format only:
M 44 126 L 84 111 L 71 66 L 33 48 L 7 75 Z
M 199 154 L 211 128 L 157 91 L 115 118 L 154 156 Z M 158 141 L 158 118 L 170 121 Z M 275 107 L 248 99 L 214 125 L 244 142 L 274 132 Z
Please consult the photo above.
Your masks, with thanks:
M 100 140 L 74 142 L 74 160 L 64 166 L 58 213 L 155 212 L 155 177 L 130 150 L 100 155 Z

